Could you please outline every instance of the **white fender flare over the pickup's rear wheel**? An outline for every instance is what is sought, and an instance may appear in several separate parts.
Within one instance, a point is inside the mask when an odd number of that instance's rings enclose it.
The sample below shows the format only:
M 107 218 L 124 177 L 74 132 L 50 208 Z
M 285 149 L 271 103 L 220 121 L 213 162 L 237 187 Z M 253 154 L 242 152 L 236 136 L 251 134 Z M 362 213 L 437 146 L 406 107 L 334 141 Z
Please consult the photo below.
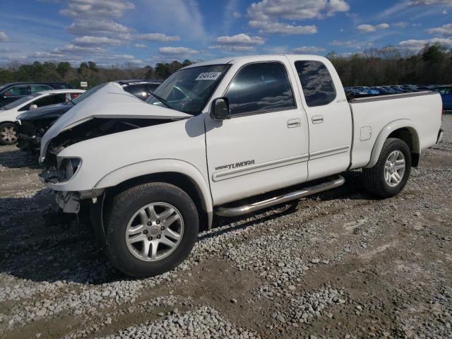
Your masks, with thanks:
M 374 147 L 372 148 L 371 157 L 369 163 L 364 166 L 364 168 L 374 167 L 376 162 L 379 160 L 379 156 L 381 153 L 381 148 L 383 148 L 383 143 L 386 141 L 388 136 L 398 129 L 408 129 L 412 133 L 412 143 L 413 143 L 413 153 L 421 153 L 420 143 L 419 143 L 419 135 L 417 133 L 417 129 L 413 124 L 413 121 L 410 119 L 398 119 L 391 121 L 389 124 L 384 126 L 379 135 L 376 137 L 376 141 L 374 143 Z

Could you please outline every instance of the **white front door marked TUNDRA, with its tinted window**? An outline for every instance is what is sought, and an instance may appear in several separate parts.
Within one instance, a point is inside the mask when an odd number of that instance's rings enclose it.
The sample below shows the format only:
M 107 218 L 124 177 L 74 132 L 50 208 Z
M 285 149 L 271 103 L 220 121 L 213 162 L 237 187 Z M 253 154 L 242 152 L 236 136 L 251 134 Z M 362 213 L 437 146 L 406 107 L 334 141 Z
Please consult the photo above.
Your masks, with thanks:
M 216 90 L 213 97 L 229 100 L 231 118 L 205 114 L 215 205 L 306 181 L 307 117 L 286 65 L 278 56 L 237 62 Z

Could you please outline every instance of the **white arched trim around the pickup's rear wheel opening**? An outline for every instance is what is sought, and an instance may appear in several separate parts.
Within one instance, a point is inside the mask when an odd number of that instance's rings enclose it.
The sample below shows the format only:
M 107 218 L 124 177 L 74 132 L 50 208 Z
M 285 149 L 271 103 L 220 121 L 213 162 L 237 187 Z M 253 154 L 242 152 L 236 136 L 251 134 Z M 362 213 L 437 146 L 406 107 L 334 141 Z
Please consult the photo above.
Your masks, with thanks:
M 399 138 L 408 144 L 412 155 L 412 166 L 416 167 L 419 162 L 420 150 L 420 139 L 417 129 L 410 119 L 399 119 L 391 121 L 389 124 L 381 129 L 379 135 L 376 137 L 374 147 L 371 151 L 371 157 L 369 163 L 364 166 L 365 168 L 374 167 L 376 162 L 379 160 L 379 155 L 381 153 L 381 148 L 383 148 L 383 143 L 387 138 Z

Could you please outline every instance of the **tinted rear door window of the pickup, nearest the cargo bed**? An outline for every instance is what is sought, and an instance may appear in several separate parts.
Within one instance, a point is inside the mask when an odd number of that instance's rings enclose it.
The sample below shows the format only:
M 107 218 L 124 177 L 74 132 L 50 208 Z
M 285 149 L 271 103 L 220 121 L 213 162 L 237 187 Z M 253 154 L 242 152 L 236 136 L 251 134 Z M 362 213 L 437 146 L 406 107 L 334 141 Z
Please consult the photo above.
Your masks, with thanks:
M 304 98 L 309 107 L 327 105 L 336 97 L 333 79 L 320 61 L 295 62 Z

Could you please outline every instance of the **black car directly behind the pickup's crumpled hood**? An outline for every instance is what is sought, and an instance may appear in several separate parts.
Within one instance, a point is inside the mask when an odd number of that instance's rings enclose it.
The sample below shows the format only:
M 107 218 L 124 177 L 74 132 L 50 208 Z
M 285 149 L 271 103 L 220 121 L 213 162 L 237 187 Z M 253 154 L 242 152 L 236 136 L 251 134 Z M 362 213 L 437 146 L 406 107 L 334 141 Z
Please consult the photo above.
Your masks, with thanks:
M 141 100 L 146 100 L 150 93 L 153 92 L 162 83 L 160 80 L 126 80 L 117 81 L 126 92 L 135 95 Z M 18 116 L 20 124 L 18 124 L 18 143 L 17 146 L 21 150 L 28 153 L 37 153 L 40 149 L 41 137 L 49 129 L 50 126 L 64 113 L 68 112 L 73 105 L 78 104 L 86 97 L 89 97 L 104 84 L 91 88 L 83 95 L 74 100 L 59 105 L 42 107 L 41 109 L 33 109 Z

